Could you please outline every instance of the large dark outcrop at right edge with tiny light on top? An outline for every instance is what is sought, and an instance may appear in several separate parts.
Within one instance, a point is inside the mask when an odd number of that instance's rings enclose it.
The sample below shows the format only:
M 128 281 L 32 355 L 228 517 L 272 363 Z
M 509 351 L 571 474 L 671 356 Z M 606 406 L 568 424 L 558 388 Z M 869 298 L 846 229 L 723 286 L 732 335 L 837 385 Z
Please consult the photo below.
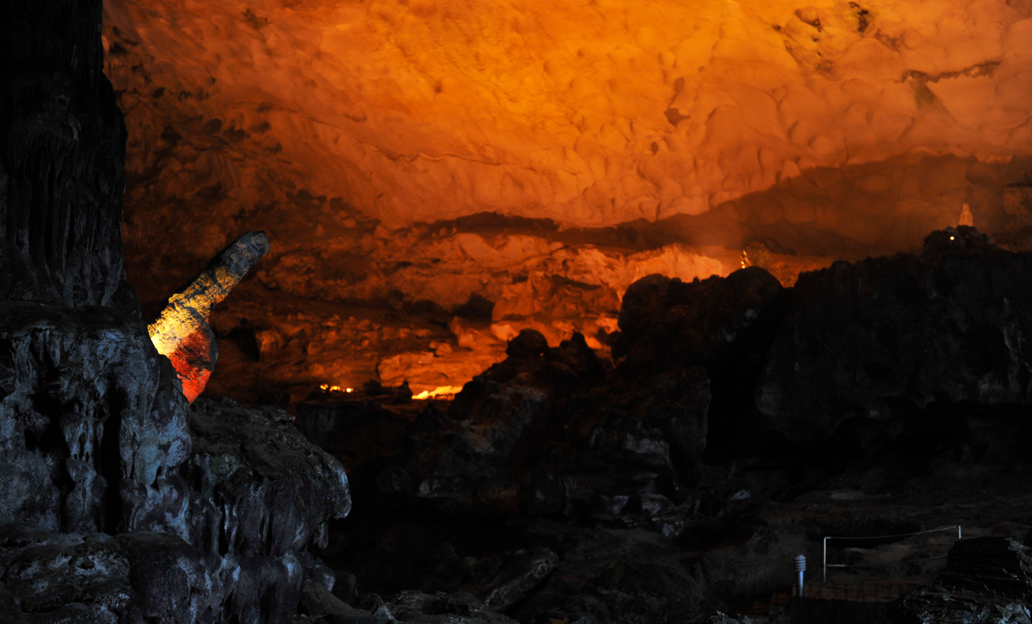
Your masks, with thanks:
M 1032 404 L 1032 256 L 972 228 L 897 255 L 804 273 L 755 390 L 763 426 L 830 437 L 933 401 Z

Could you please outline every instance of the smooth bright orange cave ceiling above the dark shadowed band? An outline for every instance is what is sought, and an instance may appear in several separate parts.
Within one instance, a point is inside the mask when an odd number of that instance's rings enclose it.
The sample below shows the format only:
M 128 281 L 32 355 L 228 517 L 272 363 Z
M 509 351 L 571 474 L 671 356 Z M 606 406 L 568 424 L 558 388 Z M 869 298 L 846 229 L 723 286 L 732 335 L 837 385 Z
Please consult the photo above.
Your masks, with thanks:
M 182 135 L 194 119 L 245 143 L 245 164 L 202 155 L 170 184 L 248 187 L 256 169 L 290 169 L 281 186 L 392 227 L 480 211 L 655 221 L 816 167 L 1032 153 L 1028 0 L 109 0 L 105 11 L 108 47 L 147 58 L 165 87 L 152 99 L 176 100 L 175 117 L 149 102 L 153 127 L 136 140 L 158 151 L 163 129 Z M 863 182 L 874 195 L 892 184 Z

